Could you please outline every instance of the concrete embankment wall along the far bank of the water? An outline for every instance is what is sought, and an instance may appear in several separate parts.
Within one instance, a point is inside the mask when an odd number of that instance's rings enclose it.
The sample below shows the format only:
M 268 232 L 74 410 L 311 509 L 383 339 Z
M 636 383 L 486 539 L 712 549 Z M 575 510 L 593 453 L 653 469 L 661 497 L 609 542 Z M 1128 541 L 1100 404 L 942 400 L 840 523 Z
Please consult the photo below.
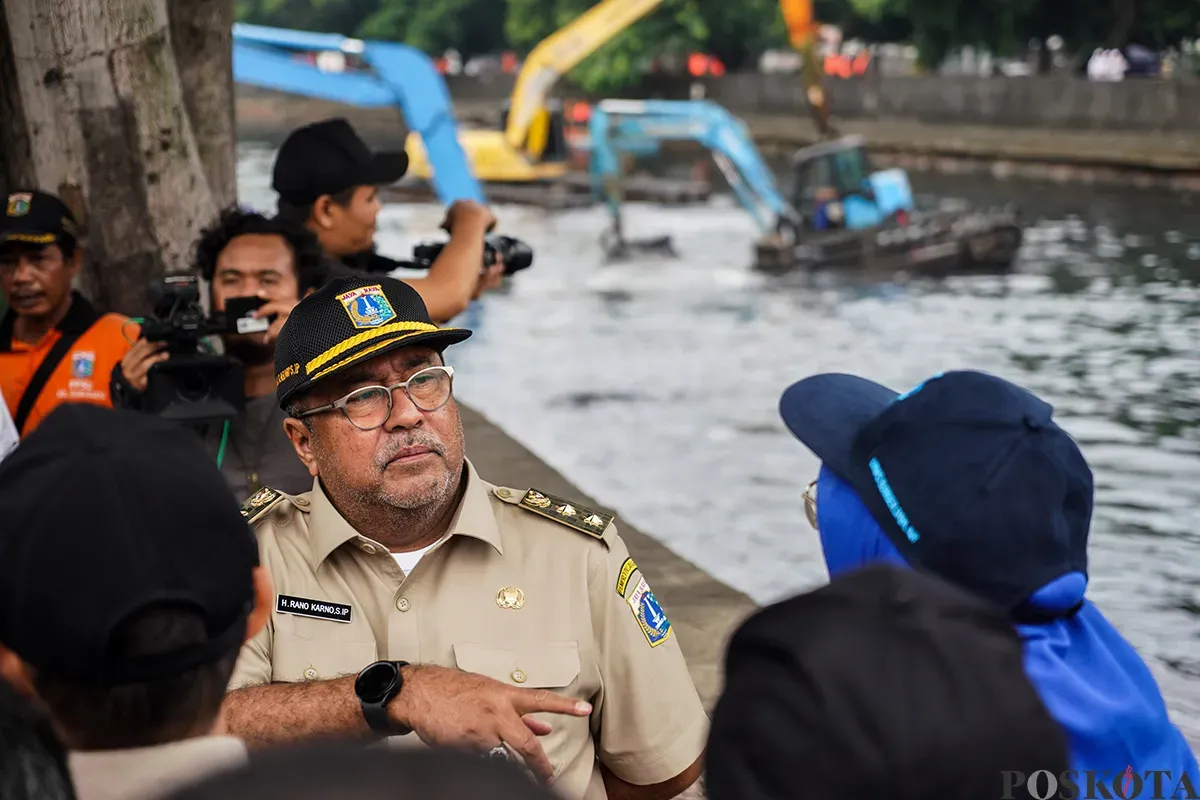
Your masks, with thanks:
M 794 74 L 732 74 L 701 82 L 740 116 L 760 146 L 790 151 L 817 139 Z M 497 125 L 512 80 L 448 79 L 464 125 Z M 694 82 L 648 79 L 628 98 L 689 97 Z M 839 130 L 860 133 L 881 163 L 937 172 L 1200 190 L 1200 82 L 1078 78 L 866 76 L 828 80 Z M 569 82 L 563 97 L 584 97 Z M 592 100 L 596 100 L 593 97 Z M 239 88 L 244 138 L 278 139 L 294 125 L 348 116 L 377 146 L 403 142 L 400 113 Z

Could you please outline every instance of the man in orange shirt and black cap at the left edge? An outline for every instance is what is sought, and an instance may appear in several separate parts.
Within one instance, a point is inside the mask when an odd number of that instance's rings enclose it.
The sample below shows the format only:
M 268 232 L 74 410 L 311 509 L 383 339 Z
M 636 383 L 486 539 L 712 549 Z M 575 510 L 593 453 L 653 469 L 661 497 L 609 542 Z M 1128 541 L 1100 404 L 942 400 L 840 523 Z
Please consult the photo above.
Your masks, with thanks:
M 62 200 L 23 191 L 4 201 L 0 291 L 8 311 L 0 319 L 0 393 L 24 437 L 60 403 L 112 405 L 109 374 L 138 339 L 138 326 L 101 314 L 72 289 L 83 254 Z M 144 383 L 146 369 L 134 377 Z

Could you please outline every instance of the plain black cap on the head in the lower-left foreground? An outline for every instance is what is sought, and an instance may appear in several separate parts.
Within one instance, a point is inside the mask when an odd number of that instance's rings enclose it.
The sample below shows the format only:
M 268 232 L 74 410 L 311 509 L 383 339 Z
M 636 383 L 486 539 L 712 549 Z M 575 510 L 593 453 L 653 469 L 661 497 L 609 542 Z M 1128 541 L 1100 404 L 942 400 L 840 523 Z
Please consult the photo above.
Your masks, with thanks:
M 64 404 L 0 463 L 0 643 L 80 685 L 212 663 L 246 633 L 258 547 L 198 437 L 148 414 Z M 209 639 L 127 660 L 122 622 L 181 604 Z

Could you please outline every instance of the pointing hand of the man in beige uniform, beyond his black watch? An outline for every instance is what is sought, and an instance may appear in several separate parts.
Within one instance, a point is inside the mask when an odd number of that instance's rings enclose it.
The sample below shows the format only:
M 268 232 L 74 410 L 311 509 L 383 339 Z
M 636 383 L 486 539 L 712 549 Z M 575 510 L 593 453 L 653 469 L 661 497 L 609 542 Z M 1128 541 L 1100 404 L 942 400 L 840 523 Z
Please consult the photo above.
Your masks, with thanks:
M 428 745 L 467 747 L 481 753 L 504 742 L 547 783 L 554 768 L 538 736 L 551 727 L 526 716 L 539 711 L 586 717 L 592 704 L 545 690 L 506 686 L 475 673 L 432 666 L 403 667 L 404 686 L 388 715 Z

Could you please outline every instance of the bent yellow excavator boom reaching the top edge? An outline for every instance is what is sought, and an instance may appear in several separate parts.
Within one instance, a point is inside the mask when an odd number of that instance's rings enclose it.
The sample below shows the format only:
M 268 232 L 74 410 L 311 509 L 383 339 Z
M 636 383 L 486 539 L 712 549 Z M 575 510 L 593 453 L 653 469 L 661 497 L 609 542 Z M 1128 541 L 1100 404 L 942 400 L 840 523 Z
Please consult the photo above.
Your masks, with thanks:
M 554 82 L 595 53 L 605 42 L 654 11 L 662 0 L 601 0 L 542 41 L 524 60 L 504 137 L 516 150 L 526 144 L 534 115 Z

